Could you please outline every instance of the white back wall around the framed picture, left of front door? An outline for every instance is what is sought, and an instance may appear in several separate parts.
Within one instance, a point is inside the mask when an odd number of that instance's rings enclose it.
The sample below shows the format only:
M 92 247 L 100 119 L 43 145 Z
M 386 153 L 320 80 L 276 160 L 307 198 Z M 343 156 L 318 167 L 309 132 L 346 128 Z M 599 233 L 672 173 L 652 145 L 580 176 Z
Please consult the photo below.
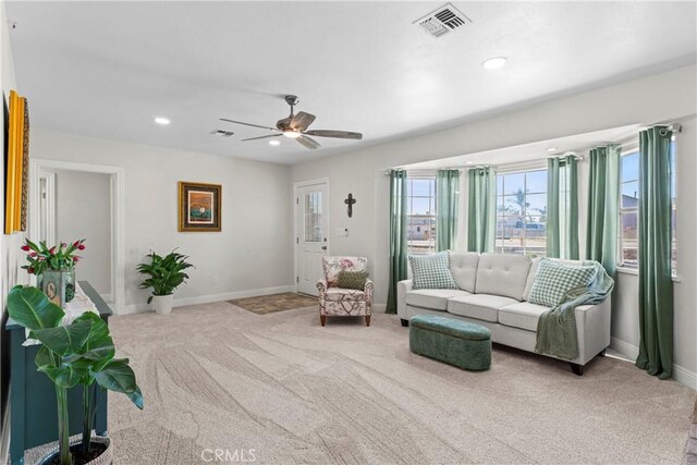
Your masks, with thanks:
M 175 292 L 180 305 L 292 289 L 288 167 L 40 130 L 30 144 L 35 159 L 124 169 L 129 311 L 145 309 L 135 266 L 151 247 L 179 247 L 196 266 Z M 178 232 L 179 181 L 222 184 L 222 232 Z

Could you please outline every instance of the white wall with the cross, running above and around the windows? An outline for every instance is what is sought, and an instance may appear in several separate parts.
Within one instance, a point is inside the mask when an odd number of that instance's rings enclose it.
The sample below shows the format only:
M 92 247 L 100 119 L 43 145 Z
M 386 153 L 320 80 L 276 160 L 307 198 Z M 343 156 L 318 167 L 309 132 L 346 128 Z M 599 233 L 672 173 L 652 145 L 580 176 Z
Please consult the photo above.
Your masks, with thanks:
M 620 127 L 629 124 L 652 124 L 663 121 L 683 120 L 697 113 L 697 69 L 688 66 L 668 73 L 631 81 L 598 90 L 550 100 L 525 110 L 504 113 L 487 120 L 476 121 L 444 131 L 403 138 L 380 146 L 368 147 L 350 154 L 314 160 L 292 167 L 293 182 L 328 176 L 331 183 L 330 231 L 347 227 L 348 237 L 331 237 L 332 254 L 365 255 L 370 261 L 370 273 L 376 282 L 377 304 L 387 302 L 388 254 L 389 254 L 389 179 L 384 170 L 415 162 L 436 160 L 458 155 L 475 154 L 502 147 L 565 137 L 594 131 Z M 694 121 L 694 118 L 693 118 Z M 695 183 L 695 132 L 685 121 L 683 138 L 692 137 L 681 149 L 678 172 L 685 172 L 687 182 L 681 183 L 678 200 L 681 209 L 681 236 L 695 235 L 694 218 Z M 692 131 L 692 132 L 690 132 Z M 369 134 L 367 134 L 369 137 Z M 681 159 L 678 158 L 678 160 Z M 579 182 L 587 179 L 587 167 L 579 169 Z M 345 195 L 352 192 L 358 199 L 354 206 L 354 218 L 345 218 L 342 208 Z M 579 196 L 579 210 L 585 217 L 587 196 Z M 689 220 L 692 218 L 692 220 Z M 692 229 L 690 229 L 692 221 Z M 579 221 L 579 241 L 583 248 L 585 218 Z M 582 249 L 583 249 L 582 248 Z M 676 338 L 675 362 L 694 374 L 697 371 L 694 319 L 694 289 L 697 274 L 695 244 L 682 242 L 681 256 L 692 266 L 681 270 L 683 283 L 676 285 Z M 617 282 L 617 295 L 634 295 L 625 277 Z M 631 278 L 629 278 L 631 280 Z M 624 289 L 623 289 L 624 286 Z M 690 291 L 688 291 L 690 290 Z M 629 302 L 629 301 L 625 301 Z M 614 311 L 615 339 L 632 344 L 629 308 L 623 302 Z M 692 310 L 690 310 L 692 308 Z M 684 316 L 686 316 L 684 318 Z M 693 333 L 690 335 L 690 332 Z M 692 376 L 692 375 L 690 375 Z M 694 386 L 694 384 L 693 384 Z

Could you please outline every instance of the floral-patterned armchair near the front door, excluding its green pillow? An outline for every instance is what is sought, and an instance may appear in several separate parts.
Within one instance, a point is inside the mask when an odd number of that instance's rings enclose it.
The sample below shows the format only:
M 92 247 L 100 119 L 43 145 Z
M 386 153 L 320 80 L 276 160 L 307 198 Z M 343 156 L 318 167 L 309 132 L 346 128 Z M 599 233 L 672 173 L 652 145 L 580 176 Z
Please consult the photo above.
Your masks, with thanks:
M 366 326 L 370 326 L 372 315 L 372 281 L 366 280 L 363 291 L 337 286 L 340 271 L 365 271 L 368 259 L 365 257 L 322 257 L 325 279 L 317 281 L 319 291 L 319 322 L 325 326 L 327 316 L 365 316 Z

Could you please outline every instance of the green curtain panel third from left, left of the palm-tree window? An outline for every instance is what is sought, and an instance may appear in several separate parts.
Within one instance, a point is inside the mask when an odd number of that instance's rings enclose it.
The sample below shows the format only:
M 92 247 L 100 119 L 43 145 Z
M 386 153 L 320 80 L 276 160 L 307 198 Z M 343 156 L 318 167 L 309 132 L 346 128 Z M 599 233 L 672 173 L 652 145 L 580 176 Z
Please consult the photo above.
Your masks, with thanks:
M 497 176 L 493 168 L 474 168 L 467 173 L 467 250 L 493 252 Z

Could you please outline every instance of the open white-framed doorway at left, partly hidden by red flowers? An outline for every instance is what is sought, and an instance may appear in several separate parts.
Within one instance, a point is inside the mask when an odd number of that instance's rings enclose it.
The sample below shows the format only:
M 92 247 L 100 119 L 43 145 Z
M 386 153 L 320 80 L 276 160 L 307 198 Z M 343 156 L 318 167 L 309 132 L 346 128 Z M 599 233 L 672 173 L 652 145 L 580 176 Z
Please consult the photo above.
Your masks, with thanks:
M 30 160 L 28 237 L 86 238 L 77 280 L 88 280 L 115 314 L 124 311 L 123 168 Z

